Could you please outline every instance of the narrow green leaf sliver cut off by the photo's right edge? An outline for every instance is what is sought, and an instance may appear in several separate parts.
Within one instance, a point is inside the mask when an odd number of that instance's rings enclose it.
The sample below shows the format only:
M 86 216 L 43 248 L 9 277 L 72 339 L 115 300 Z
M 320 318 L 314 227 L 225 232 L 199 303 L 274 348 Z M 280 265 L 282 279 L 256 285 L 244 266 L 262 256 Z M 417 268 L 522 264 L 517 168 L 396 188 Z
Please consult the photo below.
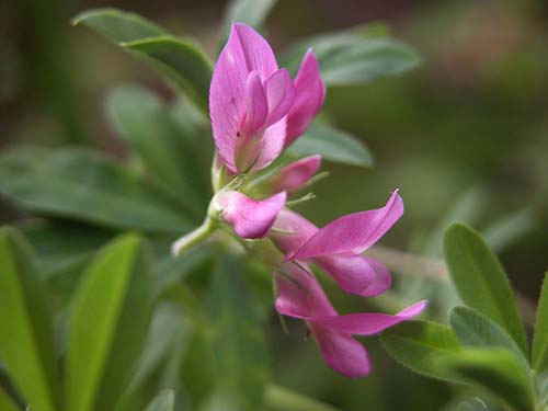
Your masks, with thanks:
M 548 273 L 538 299 L 535 335 L 533 336 L 532 365 L 537 374 L 548 368 Z

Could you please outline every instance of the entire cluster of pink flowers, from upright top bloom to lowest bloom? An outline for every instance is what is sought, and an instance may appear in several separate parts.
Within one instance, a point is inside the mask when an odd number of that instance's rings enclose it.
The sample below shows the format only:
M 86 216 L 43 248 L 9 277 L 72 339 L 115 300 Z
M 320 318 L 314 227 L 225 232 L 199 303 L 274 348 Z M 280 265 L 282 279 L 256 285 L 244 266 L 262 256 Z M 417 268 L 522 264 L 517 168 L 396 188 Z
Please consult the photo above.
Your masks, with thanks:
M 278 68 L 269 43 L 244 24 L 233 24 L 215 66 L 209 112 L 218 167 L 231 178 L 260 174 L 309 126 L 323 104 L 326 87 L 318 61 L 307 52 L 295 79 Z M 353 335 L 369 335 L 419 315 L 420 301 L 390 316 L 339 315 L 310 264 L 329 274 L 351 294 L 373 297 L 391 285 L 388 270 L 362 255 L 403 214 L 398 192 L 379 209 L 354 213 L 316 227 L 286 208 L 287 193 L 308 183 L 320 167 L 320 156 L 290 163 L 263 179 L 265 191 L 254 199 L 246 185 L 220 190 L 216 203 L 221 218 L 242 239 L 272 241 L 283 253 L 274 267 L 276 310 L 307 322 L 328 365 L 347 377 L 370 370 L 364 346 Z M 282 261 L 283 260 L 283 261 Z

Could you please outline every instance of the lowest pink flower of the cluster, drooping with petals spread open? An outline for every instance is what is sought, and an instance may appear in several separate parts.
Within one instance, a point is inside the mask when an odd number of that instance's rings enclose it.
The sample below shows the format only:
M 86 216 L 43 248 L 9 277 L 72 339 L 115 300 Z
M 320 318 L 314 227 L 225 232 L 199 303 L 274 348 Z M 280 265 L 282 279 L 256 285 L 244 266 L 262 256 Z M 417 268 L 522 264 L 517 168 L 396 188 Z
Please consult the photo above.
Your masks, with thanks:
M 351 313 L 339 316 L 318 281 L 306 264 L 285 263 L 276 275 L 278 295 L 276 310 L 307 322 L 320 346 L 326 363 L 335 372 L 350 377 L 363 377 L 370 372 L 364 346 L 353 335 L 376 334 L 399 322 L 418 316 L 426 301 L 420 301 L 396 316 L 385 313 Z

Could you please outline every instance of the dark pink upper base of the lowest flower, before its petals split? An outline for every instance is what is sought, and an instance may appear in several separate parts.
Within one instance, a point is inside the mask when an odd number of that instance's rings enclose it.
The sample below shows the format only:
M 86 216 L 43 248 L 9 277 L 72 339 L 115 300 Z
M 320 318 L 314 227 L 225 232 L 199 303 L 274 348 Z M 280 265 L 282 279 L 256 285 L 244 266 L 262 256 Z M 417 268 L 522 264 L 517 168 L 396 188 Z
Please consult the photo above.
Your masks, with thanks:
M 326 293 L 306 264 L 285 263 L 275 276 L 276 310 L 288 317 L 308 319 L 336 316 Z

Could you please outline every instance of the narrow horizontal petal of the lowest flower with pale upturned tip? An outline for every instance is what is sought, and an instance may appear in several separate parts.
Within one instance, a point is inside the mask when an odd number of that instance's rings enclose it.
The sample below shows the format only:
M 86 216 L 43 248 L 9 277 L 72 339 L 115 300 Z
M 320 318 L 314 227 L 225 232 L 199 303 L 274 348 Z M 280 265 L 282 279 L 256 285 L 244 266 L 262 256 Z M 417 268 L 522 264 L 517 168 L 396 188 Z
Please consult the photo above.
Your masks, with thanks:
M 415 302 L 396 316 L 363 312 L 315 318 L 309 321 L 347 334 L 372 335 L 420 315 L 426 305 L 426 300 Z

